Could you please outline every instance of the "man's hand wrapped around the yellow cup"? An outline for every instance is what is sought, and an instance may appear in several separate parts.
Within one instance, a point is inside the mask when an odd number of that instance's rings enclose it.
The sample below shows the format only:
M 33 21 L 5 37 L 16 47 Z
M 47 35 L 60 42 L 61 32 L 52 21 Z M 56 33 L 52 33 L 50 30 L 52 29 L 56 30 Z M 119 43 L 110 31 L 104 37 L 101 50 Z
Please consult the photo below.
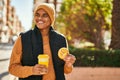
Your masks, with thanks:
M 45 65 L 36 64 L 33 67 L 34 75 L 43 75 L 43 74 L 47 74 L 47 72 L 48 72 L 48 69 Z

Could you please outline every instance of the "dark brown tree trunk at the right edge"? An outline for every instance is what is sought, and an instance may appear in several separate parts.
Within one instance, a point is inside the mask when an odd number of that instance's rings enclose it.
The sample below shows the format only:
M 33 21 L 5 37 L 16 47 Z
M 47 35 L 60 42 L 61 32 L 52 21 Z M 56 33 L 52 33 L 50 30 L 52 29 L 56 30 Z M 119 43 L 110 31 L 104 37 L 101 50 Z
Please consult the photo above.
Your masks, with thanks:
M 110 48 L 120 49 L 120 1 L 113 0 L 112 37 Z

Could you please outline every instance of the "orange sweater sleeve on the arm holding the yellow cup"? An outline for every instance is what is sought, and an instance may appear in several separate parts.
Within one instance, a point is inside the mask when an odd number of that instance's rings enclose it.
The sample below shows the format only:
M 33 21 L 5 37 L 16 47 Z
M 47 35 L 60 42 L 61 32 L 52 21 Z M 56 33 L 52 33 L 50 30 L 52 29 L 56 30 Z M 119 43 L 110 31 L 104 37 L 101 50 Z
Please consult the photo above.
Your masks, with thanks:
M 32 75 L 31 66 L 22 66 L 21 65 L 21 57 L 22 57 L 22 44 L 21 44 L 21 36 L 16 40 L 9 63 L 9 72 L 10 74 L 19 77 L 25 78 Z

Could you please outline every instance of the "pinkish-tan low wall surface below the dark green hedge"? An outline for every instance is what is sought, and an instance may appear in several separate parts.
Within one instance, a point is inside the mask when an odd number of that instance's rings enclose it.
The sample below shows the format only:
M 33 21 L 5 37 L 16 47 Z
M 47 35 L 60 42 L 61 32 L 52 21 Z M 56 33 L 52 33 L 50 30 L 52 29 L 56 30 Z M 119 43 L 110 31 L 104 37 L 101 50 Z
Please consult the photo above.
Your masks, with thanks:
M 120 68 L 75 67 L 66 80 L 120 80 Z

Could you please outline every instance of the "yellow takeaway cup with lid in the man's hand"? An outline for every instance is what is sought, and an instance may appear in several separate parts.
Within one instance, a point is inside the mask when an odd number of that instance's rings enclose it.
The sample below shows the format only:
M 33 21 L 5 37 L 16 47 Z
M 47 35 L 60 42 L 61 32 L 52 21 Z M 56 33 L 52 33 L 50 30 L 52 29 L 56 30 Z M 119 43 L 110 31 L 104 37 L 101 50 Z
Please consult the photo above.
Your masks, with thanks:
M 48 67 L 48 63 L 49 63 L 48 55 L 46 55 L 46 54 L 38 55 L 38 64 L 42 64 L 42 65 L 45 65 L 46 67 Z

